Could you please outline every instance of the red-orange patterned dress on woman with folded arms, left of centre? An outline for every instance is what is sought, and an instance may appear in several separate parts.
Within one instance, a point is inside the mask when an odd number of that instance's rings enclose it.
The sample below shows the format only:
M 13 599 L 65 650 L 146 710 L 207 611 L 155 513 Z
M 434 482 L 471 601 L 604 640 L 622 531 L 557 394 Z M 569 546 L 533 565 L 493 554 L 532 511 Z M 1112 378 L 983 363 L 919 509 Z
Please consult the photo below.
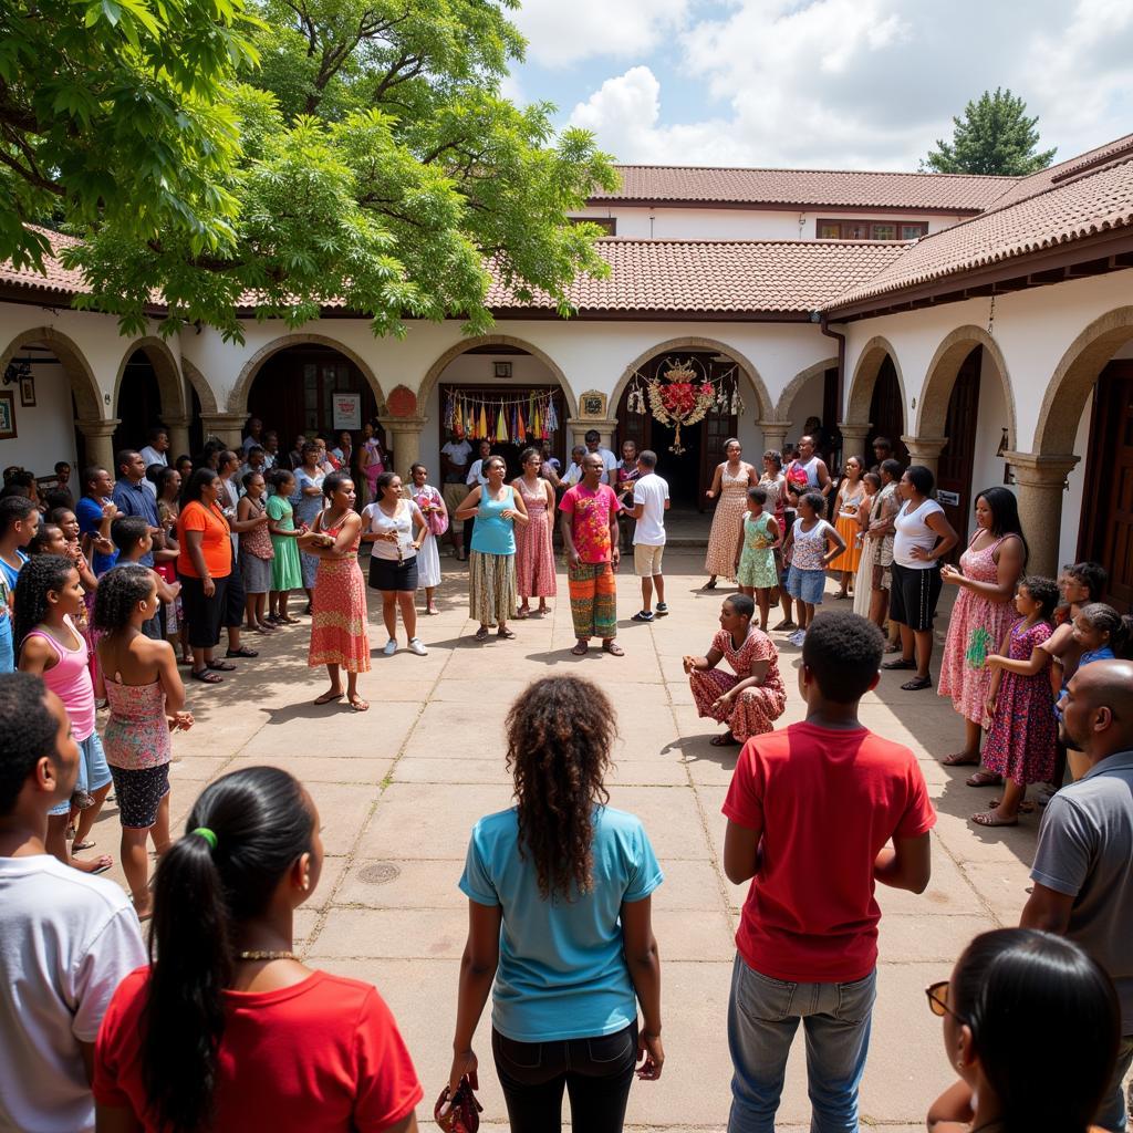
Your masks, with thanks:
M 315 519 L 316 531 L 338 538 L 347 512 L 334 527 L 323 527 L 323 517 Z M 315 598 L 312 603 L 310 653 L 307 664 L 341 665 L 348 673 L 369 672 L 369 636 L 366 632 L 366 580 L 358 565 L 361 529 L 346 559 L 320 559 L 315 576 Z

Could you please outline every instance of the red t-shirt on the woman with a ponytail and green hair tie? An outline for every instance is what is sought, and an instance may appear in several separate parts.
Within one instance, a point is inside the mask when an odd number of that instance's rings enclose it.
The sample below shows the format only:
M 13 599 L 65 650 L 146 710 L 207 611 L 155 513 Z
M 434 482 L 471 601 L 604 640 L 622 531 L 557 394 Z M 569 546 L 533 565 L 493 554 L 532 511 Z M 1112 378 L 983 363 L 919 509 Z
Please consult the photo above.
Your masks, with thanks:
M 129 1108 L 157 1133 L 142 1081 L 140 1016 L 148 968 L 119 985 L 95 1047 L 94 1098 Z M 315 972 L 279 991 L 225 991 L 216 1133 L 376 1133 L 421 1100 L 390 1008 L 368 983 Z M 176 1025 L 176 1024 L 172 1024 Z

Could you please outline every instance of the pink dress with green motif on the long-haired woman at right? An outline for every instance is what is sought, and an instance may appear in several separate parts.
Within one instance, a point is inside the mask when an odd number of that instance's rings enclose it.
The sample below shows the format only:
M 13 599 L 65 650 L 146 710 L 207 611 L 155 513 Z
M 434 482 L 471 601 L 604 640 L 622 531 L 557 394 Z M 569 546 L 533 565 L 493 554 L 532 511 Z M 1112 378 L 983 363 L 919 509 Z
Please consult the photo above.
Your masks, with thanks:
M 996 539 L 982 551 L 973 551 L 972 543 L 979 534 L 972 536 L 968 550 L 960 556 L 960 569 L 964 578 L 976 582 L 995 582 L 998 578 L 995 553 L 1003 539 Z M 983 704 L 991 683 L 991 671 L 985 661 L 998 651 L 1007 627 L 1016 616 L 1011 598 L 993 602 L 968 587 L 960 588 L 948 620 L 939 691 L 942 697 L 952 697 L 953 708 L 973 724 L 983 719 Z

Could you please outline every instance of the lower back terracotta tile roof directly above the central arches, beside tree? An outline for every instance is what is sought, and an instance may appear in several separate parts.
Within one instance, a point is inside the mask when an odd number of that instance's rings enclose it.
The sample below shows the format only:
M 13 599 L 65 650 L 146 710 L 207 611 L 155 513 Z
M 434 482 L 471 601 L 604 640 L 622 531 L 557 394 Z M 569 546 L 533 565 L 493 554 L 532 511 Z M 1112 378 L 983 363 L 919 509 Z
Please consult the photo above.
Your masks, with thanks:
M 843 240 L 598 241 L 608 279 L 582 276 L 570 289 L 579 314 L 680 312 L 772 314 L 811 312 L 851 281 L 864 282 L 901 255 L 906 244 Z M 494 310 L 554 308 L 547 296 L 517 304 L 496 284 Z

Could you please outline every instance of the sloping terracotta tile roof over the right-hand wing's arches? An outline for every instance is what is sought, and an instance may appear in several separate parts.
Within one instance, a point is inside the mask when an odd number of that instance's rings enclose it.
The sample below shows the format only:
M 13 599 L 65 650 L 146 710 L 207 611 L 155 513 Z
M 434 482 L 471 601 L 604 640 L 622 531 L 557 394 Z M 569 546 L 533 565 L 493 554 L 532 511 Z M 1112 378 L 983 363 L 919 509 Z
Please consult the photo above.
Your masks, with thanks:
M 1127 227 L 1133 228 L 1133 153 L 925 237 L 872 279 L 847 287 L 826 309 Z

